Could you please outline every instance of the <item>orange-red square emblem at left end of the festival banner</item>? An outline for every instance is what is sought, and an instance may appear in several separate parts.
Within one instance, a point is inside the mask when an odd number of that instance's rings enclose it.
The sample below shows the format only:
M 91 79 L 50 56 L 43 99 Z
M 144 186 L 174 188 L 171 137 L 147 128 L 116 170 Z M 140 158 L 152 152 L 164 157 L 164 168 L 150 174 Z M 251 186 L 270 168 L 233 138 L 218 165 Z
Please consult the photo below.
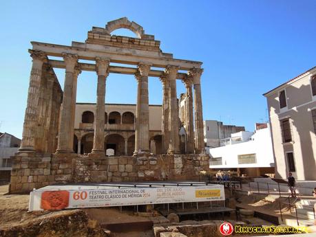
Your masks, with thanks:
M 68 207 L 68 191 L 45 191 L 41 196 L 41 209 L 43 210 L 60 210 Z

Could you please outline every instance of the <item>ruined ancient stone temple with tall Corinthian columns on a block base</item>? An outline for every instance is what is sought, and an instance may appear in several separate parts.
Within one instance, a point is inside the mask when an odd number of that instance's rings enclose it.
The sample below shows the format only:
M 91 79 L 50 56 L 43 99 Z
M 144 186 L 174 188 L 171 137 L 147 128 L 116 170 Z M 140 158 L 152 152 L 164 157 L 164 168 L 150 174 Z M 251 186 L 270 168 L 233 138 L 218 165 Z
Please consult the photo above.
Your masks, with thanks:
M 129 29 L 138 37 L 111 35 L 119 28 Z M 209 168 L 209 157 L 204 154 L 202 63 L 163 53 L 160 41 L 127 18 L 110 21 L 104 28 L 92 27 L 85 43 L 31 43 L 28 103 L 21 147 L 13 159 L 10 192 L 27 192 L 53 183 L 196 180 L 200 170 Z M 65 69 L 63 90 L 54 68 Z M 80 104 L 76 105 L 76 84 L 81 71 L 95 71 L 98 84 L 96 104 L 90 105 L 94 107 L 93 120 L 89 119 L 91 114 L 81 114 L 78 125 L 75 114 Z M 133 115 L 125 113 L 127 124 L 121 122 L 124 113 L 118 124 L 117 114 L 106 113 L 110 106 L 105 103 L 109 73 L 136 78 L 137 104 Z M 149 76 L 162 82 L 162 122 L 156 133 L 149 131 Z M 176 80 L 182 80 L 187 89 L 182 122 Z M 107 135 L 118 131 L 126 131 L 124 152 L 107 156 Z M 87 153 L 78 152 L 81 138 L 87 133 L 91 148 Z M 185 136 L 184 140 L 180 134 Z M 154 135 L 161 136 L 159 154 L 151 149 Z M 131 136 L 132 148 L 128 145 Z M 185 149 L 181 148 L 183 141 Z

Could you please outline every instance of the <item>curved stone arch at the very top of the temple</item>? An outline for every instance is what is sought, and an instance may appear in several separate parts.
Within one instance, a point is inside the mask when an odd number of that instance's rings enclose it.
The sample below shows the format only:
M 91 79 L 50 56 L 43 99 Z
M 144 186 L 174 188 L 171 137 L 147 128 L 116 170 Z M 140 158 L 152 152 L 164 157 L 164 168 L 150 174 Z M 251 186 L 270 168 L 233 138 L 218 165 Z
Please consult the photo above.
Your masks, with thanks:
M 134 21 L 129 21 L 127 17 L 116 19 L 114 21 L 109 21 L 107 25 L 105 25 L 105 30 L 108 34 L 111 34 L 112 32 L 114 32 L 114 30 L 118 30 L 121 28 L 131 30 L 131 32 L 134 32 L 138 36 L 138 38 L 144 38 L 145 36 L 145 31 L 143 27 L 141 27 Z

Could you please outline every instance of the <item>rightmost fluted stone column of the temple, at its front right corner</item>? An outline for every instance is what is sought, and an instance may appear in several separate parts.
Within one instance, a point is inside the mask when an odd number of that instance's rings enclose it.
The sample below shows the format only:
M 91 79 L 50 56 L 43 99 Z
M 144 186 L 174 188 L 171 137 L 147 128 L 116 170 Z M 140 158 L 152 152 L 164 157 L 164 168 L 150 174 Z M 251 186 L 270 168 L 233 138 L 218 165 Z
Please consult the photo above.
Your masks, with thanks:
M 204 153 L 204 129 L 203 129 L 203 113 L 202 113 L 202 95 L 200 78 L 203 69 L 191 69 L 189 76 L 193 80 L 194 88 L 194 121 L 196 126 L 196 153 Z

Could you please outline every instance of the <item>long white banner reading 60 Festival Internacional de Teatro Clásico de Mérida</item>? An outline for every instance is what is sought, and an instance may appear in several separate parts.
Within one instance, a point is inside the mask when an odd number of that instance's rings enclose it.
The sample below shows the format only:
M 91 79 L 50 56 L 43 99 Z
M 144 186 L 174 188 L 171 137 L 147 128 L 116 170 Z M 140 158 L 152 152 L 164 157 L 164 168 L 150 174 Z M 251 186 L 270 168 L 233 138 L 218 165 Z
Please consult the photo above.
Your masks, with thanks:
M 62 188 L 63 186 L 61 186 Z M 69 187 L 69 186 L 67 186 Z M 158 203 L 186 203 L 225 200 L 223 185 L 165 186 L 155 188 L 99 186 L 78 190 L 34 190 L 30 211 L 84 207 L 114 207 Z

